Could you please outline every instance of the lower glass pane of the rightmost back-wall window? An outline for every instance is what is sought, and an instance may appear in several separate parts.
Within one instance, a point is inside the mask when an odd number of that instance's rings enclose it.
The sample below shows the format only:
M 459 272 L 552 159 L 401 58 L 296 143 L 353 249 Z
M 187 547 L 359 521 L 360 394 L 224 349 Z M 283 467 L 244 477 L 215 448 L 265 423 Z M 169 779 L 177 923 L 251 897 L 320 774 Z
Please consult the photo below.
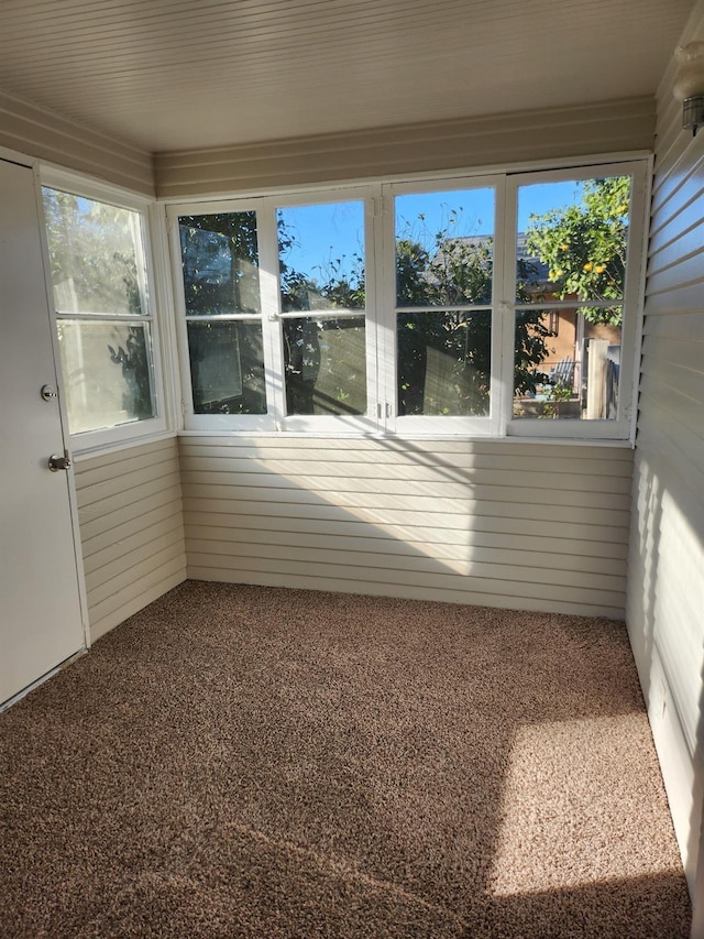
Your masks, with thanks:
M 622 307 L 516 314 L 514 417 L 612 421 L 618 411 Z

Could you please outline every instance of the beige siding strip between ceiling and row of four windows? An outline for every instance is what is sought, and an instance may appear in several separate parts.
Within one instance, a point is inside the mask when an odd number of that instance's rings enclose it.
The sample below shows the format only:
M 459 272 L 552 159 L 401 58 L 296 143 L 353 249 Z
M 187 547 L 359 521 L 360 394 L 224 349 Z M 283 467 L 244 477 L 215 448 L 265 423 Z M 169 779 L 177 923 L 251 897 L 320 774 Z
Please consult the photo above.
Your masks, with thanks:
M 651 150 L 650 98 L 161 153 L 157 195 L 244 193 L 330 181 Z

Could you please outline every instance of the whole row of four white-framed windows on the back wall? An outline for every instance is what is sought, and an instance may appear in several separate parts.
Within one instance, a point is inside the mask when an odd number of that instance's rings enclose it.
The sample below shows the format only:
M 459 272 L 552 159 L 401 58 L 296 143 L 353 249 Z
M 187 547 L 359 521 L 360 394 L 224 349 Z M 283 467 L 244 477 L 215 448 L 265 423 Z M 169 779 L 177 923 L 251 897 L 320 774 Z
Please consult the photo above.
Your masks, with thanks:
M 170 207 L 186 428 L 628 438 L 645 168 Z

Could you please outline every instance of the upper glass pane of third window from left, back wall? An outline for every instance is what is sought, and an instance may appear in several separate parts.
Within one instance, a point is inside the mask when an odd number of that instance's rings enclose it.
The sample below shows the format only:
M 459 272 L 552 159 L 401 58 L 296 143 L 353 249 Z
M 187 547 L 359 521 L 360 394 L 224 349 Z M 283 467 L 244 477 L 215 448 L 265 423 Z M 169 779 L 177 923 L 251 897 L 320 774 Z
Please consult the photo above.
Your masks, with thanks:
M 494 190 L 397 196 L 396 305 L 492 302 Z

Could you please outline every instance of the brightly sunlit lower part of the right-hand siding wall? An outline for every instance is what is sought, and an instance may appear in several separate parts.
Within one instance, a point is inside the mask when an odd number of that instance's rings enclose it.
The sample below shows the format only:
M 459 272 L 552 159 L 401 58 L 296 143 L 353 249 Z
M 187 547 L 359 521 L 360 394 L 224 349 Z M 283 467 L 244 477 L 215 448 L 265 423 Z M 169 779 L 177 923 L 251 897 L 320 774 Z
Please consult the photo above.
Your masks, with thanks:
M 703 939 L 704 511 L 651 439 L 635 480 L 628 626 Z

